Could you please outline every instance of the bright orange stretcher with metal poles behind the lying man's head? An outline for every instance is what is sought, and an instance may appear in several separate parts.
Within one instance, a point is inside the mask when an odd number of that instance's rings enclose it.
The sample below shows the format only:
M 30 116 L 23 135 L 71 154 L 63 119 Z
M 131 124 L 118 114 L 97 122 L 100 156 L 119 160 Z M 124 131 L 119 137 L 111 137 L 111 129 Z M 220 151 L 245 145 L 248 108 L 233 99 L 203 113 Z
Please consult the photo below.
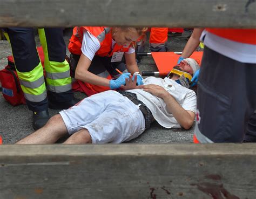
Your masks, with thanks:
M 167 76 L 172 68 L 177 65 L 181 52 L 151 52 L 138 53 L 138 56 L 152 56 L 158 71 L 142 71 L 142 76 Z M 195 59 L 199 65 L 203 57 L 203 51 L 194 52 L 190 58 Z

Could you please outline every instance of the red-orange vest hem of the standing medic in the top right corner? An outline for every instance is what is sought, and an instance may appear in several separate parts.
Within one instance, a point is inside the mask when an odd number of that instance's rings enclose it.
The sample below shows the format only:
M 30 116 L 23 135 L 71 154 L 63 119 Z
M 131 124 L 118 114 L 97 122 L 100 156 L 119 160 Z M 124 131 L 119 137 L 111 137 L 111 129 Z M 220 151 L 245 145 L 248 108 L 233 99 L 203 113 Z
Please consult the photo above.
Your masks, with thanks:
M 219 37 L 235 42 L 256 45 L 256 29 L 206 29 Z

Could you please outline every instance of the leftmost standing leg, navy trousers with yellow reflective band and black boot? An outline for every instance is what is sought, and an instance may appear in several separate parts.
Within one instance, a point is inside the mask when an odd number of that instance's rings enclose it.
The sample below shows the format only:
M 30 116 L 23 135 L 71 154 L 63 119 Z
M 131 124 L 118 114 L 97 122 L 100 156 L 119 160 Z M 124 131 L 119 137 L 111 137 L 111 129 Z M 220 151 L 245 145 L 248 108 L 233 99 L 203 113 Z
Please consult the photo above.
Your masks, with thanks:
M 48 100 L 33 29 L 8 28 L 6 34 L 26 104 L 33 112 L 32 126 L 34 129 L 41 128 L 49 120 Z

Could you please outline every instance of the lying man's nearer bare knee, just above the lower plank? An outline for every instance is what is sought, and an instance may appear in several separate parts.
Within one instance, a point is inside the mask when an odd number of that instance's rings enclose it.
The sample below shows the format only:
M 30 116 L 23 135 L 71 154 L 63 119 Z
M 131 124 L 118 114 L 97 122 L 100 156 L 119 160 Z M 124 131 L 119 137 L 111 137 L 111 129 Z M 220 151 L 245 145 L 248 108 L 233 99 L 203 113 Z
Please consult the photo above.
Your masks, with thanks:
M 71 135 L 64 144 L 83 144 L 92 143 L 91 135 L 89 131 L 85 128 Z

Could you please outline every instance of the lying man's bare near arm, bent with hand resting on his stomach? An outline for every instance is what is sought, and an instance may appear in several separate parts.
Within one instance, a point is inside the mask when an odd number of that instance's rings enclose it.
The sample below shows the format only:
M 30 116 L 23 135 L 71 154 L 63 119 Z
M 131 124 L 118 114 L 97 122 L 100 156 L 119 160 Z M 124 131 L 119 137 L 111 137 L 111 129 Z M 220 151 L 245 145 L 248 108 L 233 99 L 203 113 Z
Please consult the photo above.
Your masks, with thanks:
M 173 114 L 174 118 L 179 122 L 180 126 L 185 129 L 190 129 L 190 127 L 193 125 L 195 117 L 194 112 L 186 111 L 183 107 L 181 107 L 176 99 L 174 99 L 172 95 L 163 87 L 149 84 L 138 86 L 138 88 L 143 88 L 144 91 L 162 98 L 167 106 L 167 111 Z

